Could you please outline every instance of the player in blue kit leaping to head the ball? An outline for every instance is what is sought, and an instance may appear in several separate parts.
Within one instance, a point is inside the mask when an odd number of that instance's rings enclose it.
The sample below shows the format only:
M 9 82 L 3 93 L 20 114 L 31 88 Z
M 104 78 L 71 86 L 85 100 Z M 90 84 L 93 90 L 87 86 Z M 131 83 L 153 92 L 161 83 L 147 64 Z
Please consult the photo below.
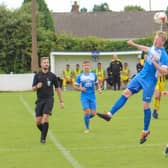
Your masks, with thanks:
M 151 120 L 151 109 L 150 103 L 154 93 L 155 85 L 157 82 L 157 74 L 167 74 L 168 67 L 168 55 L 163 47 L 166 41 L 166 33 L 159 31 L 157 32 L 153 45 L 147 47 L 144 45 L 139 45 L 132 40 L 128 41 L 128 45 L 133 46 L 139 50 L 147 53 L 147 58 L 143 69 L 137 73 L 137 75 L 130 81 L 127 88 L 123 91 L 121 97 L 112 106 L 109 112 L 102 114 L 97 113 L 100 118 L 106 121 L 110 121 L 112 116 L 127 102 L 127 99 L 143 90 L 142 100 L 144 108 L 144 128 L 141 134 L 140 144 L 144 143 L 149 135 L 149 125 Z

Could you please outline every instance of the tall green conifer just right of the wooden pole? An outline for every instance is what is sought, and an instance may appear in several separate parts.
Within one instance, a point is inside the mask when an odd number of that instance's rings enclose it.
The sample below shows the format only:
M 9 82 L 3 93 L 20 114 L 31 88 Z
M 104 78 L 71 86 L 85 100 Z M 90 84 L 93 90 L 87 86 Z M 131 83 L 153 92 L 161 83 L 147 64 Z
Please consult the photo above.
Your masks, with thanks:
M 31 2 L 31 0 L 24 0 L 24 5 Z M 44 0 L 36 0 L 36 21 L 37 21 L 37 48 L 38 57 L 49 56 L 51 50 L 54 48 L 54 41 L 56 40 L 54 31 L 54 22 L 52 14 L 49 11 Z

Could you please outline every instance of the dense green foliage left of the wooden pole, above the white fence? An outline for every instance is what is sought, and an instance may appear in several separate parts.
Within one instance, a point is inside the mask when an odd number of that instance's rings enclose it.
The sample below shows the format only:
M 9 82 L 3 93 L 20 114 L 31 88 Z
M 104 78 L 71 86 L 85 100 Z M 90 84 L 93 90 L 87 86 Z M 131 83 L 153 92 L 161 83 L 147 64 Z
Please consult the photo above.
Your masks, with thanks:
M 26 8 L 14 12 L 0 8 L 0 13 L 1 69 L 6 73 L 11 71 L 19 73 L 23 72 L 23 69 L 27 71 L 30 64 L 27 48 L 31 42 L 29 35 L 31 16 L 26 12 Z

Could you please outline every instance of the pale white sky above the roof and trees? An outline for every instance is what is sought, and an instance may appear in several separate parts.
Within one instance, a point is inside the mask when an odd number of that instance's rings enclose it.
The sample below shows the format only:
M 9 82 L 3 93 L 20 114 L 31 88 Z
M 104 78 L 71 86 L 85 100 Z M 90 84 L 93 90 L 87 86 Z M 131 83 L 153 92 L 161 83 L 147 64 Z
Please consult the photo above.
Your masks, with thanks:
M 71 6 L 75 0 L 45 0 L 48 8 L 53 12 L 70 12 Z M 166 10 L 168 0 L 76 0 L 80 8 L 85 7 L 88 12 L 92 11 L 94 5 L 107 3 L 112 11 L 123 11 L 125 6 L 137 5 L 144 8 L 146 11 L 151 10 Z M 0 0 L 0 5 L 5 5 L 9 9 L 19 8 L 23 0 Z M 151 5 L 149 5 L 151 4 Z

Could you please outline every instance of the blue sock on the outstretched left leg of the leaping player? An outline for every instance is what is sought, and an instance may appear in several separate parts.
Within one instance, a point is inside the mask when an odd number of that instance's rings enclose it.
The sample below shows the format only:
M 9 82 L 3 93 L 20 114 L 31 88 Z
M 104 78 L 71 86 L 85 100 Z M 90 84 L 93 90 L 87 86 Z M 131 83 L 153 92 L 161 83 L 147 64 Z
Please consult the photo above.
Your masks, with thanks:
M 115 112 L 117 112 L 126 102 L 127 102 L 128 98 L 125 97 L 124 95 L 122 95 L 117 101 L 116 103 L 112 106 L 110 112 L 113 115 Z

